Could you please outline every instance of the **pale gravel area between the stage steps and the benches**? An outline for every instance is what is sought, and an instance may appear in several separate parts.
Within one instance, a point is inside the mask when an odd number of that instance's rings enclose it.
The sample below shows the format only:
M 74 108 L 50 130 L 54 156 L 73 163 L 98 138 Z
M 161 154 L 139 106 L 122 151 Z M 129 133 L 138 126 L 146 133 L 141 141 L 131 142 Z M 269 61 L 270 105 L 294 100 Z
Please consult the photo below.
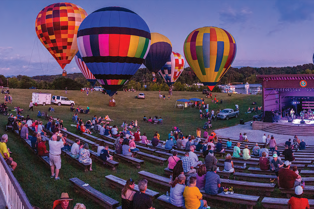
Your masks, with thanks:
M 269 134 L 270 136 L 273 135 L 276 139 L 276 142 L 278 145 L 284 145 L 284 143 L 291 138 L 291 142 L 293 141 L 294 135 L 282 135 L 282 134 L 276 134 L 276 133 L 268 133 L 262 130 L 252 130 L 251 126 L 251 121 L 245 123 L 244 125 L 236 125 L 232 126 L 229 128 L 221 128 L 221 129 L 216 129 L 215 133 L 217 136 L 221 137 L 227 137 L 227 138 L 234 138 L 234 139 L 239 139 L 240 133 L 246 133 L 247 138 L 249 141 L 252 142 L 262 142 L 262 137 L 264 133 L 266 133 L 266 136 Z M 308 145 L 314 145 L 314 141 L 312 140 L 312 136 L 299 136 L 299 139 L 302 140 L 304 139 L 305 143 Z

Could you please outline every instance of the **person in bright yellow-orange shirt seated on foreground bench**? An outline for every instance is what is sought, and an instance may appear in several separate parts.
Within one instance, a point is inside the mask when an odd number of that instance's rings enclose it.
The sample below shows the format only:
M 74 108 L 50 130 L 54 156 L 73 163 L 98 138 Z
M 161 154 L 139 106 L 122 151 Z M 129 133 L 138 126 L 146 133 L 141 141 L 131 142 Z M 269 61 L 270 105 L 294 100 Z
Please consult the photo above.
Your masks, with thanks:
M 183 192 L 185 207 L 187 209 L 202 209 L 207 207 L 207 201 L 202 200 L 203 195 L 196 187 L 196 177 L 190 177 L 190 185 L 186 186 Z

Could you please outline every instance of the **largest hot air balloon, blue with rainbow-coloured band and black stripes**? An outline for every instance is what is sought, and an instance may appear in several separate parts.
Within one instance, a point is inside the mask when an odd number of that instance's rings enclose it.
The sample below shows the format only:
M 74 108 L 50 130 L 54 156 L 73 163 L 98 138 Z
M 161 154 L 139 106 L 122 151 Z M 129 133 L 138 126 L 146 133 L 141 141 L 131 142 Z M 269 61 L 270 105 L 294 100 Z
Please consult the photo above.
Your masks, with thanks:
M 133 11 L 106 7 L 83 20 L 77 42 L 85 64 L 112 97 L 142 65 L 150 47 L 150 31 Z

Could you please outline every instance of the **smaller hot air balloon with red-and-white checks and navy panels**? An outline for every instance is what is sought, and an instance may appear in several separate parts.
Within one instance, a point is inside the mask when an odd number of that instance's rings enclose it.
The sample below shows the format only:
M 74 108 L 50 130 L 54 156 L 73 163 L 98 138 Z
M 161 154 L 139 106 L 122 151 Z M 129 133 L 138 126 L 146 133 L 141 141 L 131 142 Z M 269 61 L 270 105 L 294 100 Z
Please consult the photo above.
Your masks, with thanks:
M 184 69 L 185 61 L 182 55 L 177 52 L 172 52 L 169 60 L 161 68 L 158 74 L 165 80 L 166 84 L 170 87 L 178 77 L 181 75 Z

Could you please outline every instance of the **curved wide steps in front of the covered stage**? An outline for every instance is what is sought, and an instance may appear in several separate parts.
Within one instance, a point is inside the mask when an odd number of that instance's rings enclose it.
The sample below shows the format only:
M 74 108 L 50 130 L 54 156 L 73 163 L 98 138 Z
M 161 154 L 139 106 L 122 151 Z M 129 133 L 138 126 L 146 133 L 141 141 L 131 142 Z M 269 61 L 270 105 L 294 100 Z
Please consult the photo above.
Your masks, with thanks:
M 262 128 L 263 131 L 284 135 L 300 135 L 300 136 L 312 136 L 314 133 L 313 126 L 291 126 L 291 125 L 283 125 L 278 123 L 273 123 L 268 127 Z

